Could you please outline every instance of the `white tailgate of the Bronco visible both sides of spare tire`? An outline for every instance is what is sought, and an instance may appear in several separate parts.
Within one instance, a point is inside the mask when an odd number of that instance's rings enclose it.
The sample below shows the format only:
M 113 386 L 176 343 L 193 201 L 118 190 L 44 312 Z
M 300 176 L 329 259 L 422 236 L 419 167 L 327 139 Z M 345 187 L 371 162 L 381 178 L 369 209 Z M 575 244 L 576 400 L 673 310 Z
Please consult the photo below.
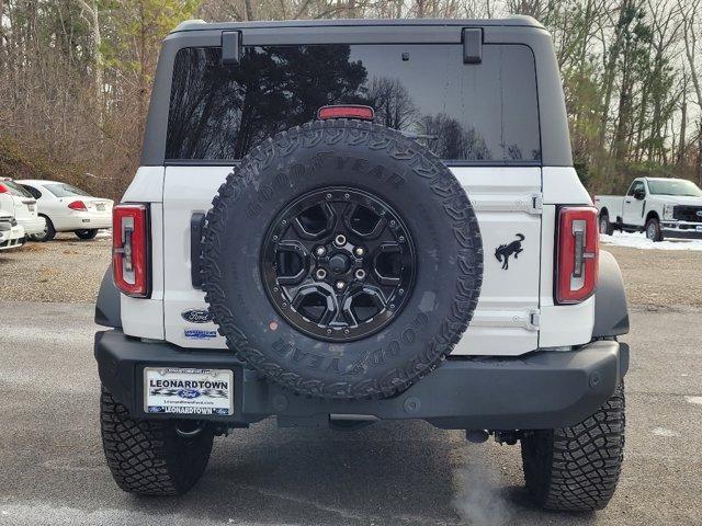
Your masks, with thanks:
M 230 167 L 168 167 L 163 185 L 163 319 L 166 340 L 189 347 L 225 347 L 212 322 L 189 321 L 206 310 L 204 293 L 191 281 L 191 219 L 204 213 Z M 455 168 L 476 209 L 485 274 L 477 311 L 454 355 L 518 355 L 537 347 L 541 270 L 541 169 Z M 193 184 L 196 173 L 196 184 Z M 251 232 L 252 236 L 263 233 Z M 501 245 L 519 241 L 521 252 Z M 516 245 L 512 245 L 516 247 Z M 505 253 L 508 268 L 505 266 Z

